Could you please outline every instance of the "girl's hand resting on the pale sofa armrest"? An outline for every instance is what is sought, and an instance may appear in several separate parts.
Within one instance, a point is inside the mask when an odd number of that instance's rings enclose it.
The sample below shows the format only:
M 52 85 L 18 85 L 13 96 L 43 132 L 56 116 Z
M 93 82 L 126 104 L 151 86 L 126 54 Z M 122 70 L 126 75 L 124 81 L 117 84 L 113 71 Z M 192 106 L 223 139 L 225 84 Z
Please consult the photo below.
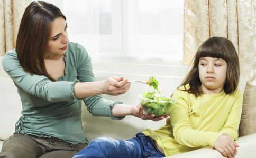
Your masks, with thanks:
M 233 158 L 237 154 L 236 147 L 239 147 L 239 145 L 228 134 L 222 134 L 215 141 L 213 149 L 216 149 L 225 157 Z

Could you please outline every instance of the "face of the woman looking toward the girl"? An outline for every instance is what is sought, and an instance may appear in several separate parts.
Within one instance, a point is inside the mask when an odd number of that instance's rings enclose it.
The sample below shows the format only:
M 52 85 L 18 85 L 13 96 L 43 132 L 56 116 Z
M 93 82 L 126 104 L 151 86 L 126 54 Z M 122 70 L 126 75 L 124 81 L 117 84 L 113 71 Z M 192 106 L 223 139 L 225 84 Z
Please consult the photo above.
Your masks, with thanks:
M 68 48 L 67 22 L 63 17 L 56 18 L 52 23 L 52 31 L 45 58 L 52 58 L 65 54 Z

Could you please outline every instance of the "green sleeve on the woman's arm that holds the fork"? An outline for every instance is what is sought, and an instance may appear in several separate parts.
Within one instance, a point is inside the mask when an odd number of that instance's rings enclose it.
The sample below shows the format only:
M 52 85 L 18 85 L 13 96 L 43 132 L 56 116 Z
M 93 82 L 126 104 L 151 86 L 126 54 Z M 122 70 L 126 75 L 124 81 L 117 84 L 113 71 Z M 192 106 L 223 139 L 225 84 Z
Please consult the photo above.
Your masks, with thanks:
M 2 61 L 3 68 L 16 86 L 49 102 L 75 99 L 74 82 L 52 82 L 42 75 L 32 75 L 23 70 L 15 50 L 7 52 Z

